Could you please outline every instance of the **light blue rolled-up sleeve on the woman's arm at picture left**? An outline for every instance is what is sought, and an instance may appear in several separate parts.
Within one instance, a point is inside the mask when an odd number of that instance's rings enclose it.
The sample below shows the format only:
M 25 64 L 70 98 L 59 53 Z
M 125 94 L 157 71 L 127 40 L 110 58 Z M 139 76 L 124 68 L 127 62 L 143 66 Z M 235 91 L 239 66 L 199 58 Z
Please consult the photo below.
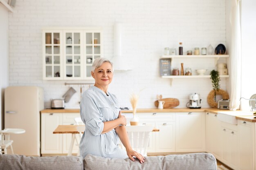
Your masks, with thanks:
M 94 98 L 90 93 L 84 93 L 80 103 L 80 115 L 85 128 L 88 128 L 92 135 L 101 135 L 105 119 L 100 113 Z

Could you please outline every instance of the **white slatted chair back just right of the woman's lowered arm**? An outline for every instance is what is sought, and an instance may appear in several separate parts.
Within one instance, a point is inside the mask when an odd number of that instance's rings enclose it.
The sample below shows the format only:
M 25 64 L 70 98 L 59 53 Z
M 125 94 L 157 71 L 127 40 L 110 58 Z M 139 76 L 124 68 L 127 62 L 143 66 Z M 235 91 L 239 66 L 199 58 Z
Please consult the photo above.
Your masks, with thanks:
M 153 128 L 154 126 L 126 126 L 126 131 L 133 150 L 143 156 L 147 156 L 150 133 Z

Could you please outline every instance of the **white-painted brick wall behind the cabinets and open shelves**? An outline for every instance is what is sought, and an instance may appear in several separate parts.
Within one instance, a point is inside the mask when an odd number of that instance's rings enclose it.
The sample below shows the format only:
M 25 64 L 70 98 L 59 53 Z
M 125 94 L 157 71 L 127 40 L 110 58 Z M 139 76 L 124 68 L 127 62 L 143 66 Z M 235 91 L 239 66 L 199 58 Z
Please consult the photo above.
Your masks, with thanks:
M 184 108 L 190 93 L 200 93 L 202 106 L 209 107 L 207 95 L 210 79 L 169 79 L 159 77 L 159 57 L 164 47 L 177 48 L 183 42 L 184 52 L 194 47 L 213 47 L 226 42 L 225 0 L 20 0 L 9 14 L 10 85 L 36 85 L 45 90 L 49 100 L 61 98 L 69 88 L 68 81 L 42 80 L 41 33 L 45 26 L 102 26 L 104 56 L 113 55 L 113 25 L 123 23 L 122 53 L 132 71 L 115 72 L 109 91 L 116 94 L 121 106 L 130 107 L 129 93 L 140 93 L 138 108 L 153 108 L 157 94 L 180 100 Z M 214 59 L 175 59 L 173 66 L 214 68 Z M 209 73 L 209 71 L 207 73 Z M 85 81 L 76 81 L 85 82 Z M 78 93 L 66 104 L 78 106 Z M 88 88 L 84 86 L 83 90 Z M 221 88 L 226 90 L 226 80 Z

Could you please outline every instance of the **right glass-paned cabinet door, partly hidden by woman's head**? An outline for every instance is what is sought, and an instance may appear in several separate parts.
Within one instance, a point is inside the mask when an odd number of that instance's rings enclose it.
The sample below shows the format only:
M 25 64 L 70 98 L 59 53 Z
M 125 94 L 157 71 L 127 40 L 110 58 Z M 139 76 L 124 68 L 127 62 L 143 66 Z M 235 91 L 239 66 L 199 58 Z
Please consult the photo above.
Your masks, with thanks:
M 86 70 L 85 79 L 92 78 L 91 71 L 92 71 L 92 62 L 96 58 L 102 57 L 102 33 L 101 31 L 84 31 L 84 39 L 85 39 L 85 65 Z

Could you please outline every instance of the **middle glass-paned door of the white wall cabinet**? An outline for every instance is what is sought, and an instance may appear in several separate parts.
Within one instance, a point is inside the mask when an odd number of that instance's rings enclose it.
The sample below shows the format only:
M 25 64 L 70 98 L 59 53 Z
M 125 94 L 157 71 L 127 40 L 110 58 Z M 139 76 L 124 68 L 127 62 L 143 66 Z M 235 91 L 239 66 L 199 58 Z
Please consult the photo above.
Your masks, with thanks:
M 64 79 L 83 79 L 83 31 L 64 31 Z

